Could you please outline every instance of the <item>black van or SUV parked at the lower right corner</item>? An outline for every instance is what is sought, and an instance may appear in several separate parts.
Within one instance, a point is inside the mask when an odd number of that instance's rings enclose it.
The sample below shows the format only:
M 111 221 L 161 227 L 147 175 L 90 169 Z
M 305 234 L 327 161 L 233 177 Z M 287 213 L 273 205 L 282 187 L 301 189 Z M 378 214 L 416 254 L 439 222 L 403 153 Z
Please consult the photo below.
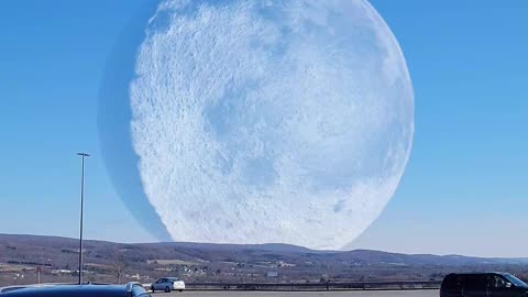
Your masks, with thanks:
M 528 285 L 509 273 L 450 274 L 440 297 L 528 297 Z

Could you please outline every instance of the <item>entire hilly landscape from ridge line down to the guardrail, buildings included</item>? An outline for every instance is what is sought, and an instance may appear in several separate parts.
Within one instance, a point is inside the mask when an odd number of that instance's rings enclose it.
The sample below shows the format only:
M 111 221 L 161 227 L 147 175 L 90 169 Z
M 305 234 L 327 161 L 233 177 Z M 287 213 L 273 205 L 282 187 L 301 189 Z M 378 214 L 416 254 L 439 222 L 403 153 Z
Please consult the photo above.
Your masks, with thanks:
M 87 277 L 92 282 L 117 282 L 116 270 L 120 266 L 125 267 L 123 278 L 142 282 L 167 275 L 189 282 L 440 280 L 448 273 L 470 271 L 508 271 L 528 277 L 528 258 L 314 251 L 279 243 L 86 240 L 84 261 Z M 19 277 L 16 282 L 34 283 L 36 267 L 41 267 L 45 282 L 70 282 L 75 279 L 77 262 L 76 239 L 0 234 L 0 285 L 13 284 Z

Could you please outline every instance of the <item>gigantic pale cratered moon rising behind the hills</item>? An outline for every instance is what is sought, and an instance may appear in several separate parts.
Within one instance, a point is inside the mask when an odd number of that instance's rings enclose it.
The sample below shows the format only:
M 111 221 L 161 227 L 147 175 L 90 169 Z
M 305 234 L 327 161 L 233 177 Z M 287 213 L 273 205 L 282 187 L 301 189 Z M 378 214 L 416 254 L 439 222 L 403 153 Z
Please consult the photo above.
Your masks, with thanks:
M 110 174 L 136 168 L 143 196 L 123 200 L 146 200 L 158 234 L 337 250 L 380 216 L 410 153 L 414 94 L 369 2 L 166 0 L 152 13 L 121 84 L 135 157 L 109 160 L 112 121 L 100 131 Z

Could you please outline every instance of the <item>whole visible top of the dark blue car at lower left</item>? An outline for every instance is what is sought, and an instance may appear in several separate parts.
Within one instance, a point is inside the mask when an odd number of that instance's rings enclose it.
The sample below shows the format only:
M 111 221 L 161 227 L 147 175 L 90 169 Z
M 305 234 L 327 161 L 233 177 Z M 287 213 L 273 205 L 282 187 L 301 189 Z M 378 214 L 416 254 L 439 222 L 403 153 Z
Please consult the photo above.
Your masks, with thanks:
M 8 287 L 0 297 L 150 297 L 140 283 L 127 285 L 41 285 Z

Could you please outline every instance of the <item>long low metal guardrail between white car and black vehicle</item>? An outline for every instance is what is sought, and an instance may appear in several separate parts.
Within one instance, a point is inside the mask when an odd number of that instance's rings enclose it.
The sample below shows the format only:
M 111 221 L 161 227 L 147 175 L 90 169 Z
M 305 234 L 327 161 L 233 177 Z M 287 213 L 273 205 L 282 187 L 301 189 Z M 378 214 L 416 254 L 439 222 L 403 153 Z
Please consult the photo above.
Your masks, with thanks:
M 186 283 L 187 290 L 422 290 L 439 289 L 441 282 L 343 283 Z

